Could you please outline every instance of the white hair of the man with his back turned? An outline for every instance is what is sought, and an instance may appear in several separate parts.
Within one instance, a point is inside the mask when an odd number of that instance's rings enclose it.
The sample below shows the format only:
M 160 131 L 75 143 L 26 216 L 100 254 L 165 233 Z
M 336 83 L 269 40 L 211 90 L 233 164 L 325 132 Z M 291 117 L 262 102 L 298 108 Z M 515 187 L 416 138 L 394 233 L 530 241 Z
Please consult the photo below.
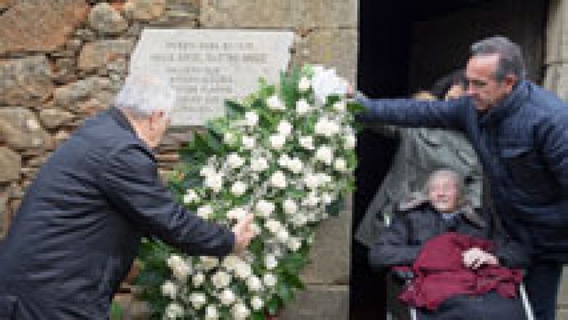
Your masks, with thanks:
M 124 86 L 114 99 L 114 106 L 136 118 L 145 118 L 153 111 L 169 116 L 175 104 L 175 90 L 165 77 L 136 73 L 126 77 Z

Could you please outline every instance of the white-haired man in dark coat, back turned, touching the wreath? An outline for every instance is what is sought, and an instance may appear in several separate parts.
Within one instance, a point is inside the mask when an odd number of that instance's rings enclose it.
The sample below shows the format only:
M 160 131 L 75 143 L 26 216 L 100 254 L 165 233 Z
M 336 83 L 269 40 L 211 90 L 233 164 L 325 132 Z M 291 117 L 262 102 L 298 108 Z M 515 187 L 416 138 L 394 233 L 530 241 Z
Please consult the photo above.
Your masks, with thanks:
M 129 77 L 45 162 L 0 243 L 0 319 L 107 319 L 145 234 L 192 255 L 246 248 L 251 216 L 229 231 L 160 182 L 151 148 L 174 101 L 166 82 Z

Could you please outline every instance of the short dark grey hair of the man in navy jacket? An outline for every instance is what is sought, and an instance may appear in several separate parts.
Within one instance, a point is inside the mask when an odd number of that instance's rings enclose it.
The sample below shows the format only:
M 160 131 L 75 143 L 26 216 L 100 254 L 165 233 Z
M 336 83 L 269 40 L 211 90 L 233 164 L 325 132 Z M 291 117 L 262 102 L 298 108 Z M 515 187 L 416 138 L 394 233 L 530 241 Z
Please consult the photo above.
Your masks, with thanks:
M 502 35 L 485 38 L 471 45 L 471 56 L 499 55 L 495 79 L 503 81 L 507 75 L 515 75 L 517 79 L 525 79 L 525 60 L 520 47 Z

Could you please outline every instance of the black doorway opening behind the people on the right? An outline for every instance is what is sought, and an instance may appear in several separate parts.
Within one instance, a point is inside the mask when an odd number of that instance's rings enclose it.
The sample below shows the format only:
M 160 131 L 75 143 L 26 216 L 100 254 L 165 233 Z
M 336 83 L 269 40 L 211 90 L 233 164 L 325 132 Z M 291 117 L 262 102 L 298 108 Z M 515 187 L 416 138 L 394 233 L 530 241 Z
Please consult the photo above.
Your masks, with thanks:
M 490 35 L 518 43 L 529 78 L 540 83 L 547 8 L 546 0 L 361 0 L 357 87 L 376 98 L 430 89 L 442 75 L 464 67 L 471 43 Z M 398 147 L 371 131 L 358 138 L 354 232 Z M 383 274 L 368 267 L 366 248 L 352 243 L 350 319 L 384 319 Z

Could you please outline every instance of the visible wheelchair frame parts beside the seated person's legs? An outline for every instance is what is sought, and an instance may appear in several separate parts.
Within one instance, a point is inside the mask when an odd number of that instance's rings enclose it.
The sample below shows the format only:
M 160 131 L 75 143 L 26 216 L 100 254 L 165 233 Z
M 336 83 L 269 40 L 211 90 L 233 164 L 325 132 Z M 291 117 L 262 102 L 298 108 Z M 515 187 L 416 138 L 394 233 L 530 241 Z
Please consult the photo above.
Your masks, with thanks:
M 391 270 L 387 275 L 387 314 L 386 320 L 418 320 L 419 312 L 415 307 L 405 306 L 398 300 L 398 295 L 404 289 L 405 285 L 413 279 L 413 272 L 401 272 Z M 535 320 L 532 307 L 528 300 L 528 294 L 523 282 L 518 287 L 519 296 L 527 320 Z

